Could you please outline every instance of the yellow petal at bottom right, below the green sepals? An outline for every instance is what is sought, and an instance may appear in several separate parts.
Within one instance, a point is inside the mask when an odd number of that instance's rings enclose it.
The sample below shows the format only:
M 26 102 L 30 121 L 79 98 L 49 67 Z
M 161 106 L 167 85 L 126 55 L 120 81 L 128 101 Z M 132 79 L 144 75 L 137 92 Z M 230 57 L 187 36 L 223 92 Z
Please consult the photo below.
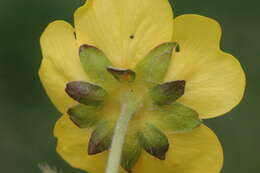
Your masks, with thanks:
M 133 172 L 219 173 L 223 151 L 216 135 L 202 125 L 189 133 L 169 135 L 165 161 L 143 153 Z

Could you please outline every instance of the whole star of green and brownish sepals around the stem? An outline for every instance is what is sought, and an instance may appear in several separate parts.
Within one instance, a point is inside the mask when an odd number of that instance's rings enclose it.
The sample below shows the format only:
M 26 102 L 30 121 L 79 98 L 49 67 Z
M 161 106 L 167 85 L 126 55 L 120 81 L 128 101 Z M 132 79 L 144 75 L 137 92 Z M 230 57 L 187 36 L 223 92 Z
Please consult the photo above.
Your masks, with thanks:
M 138 101 L 124 143 L 121 166 L 131 172 L 142 149 L 164 160 L 169 148 L 165 132 L 186 132 L 202 122 L 193 109 L 178 103 L 185 80 L 165 82 L 172 54 L 180 51 L 175 42 L 151 50 L 134 69 L 116 68 L 99 49 L 82 45 L 82 66 L 91 83 L 72 81 L 65 91 L 79 104 L 68 110 L 79 128 L 93 128 L 88 154 L 108 150 L 122 103 Z M 131 100 L 130 100 L 131 101 Z

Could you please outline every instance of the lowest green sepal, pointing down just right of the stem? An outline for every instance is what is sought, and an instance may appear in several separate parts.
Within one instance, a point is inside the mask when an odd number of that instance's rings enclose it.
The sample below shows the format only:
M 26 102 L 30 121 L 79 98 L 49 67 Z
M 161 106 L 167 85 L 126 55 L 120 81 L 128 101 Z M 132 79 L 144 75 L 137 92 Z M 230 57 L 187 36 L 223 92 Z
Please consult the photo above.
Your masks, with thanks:
M 138 161 L 142 147 L 139 143 L 137 136 L 132 137 L 130 141 L 124 143 L 122 156 L 121 156 L 121 167 L 124 168 L 128 173 L 132 172 L 133 167 Z

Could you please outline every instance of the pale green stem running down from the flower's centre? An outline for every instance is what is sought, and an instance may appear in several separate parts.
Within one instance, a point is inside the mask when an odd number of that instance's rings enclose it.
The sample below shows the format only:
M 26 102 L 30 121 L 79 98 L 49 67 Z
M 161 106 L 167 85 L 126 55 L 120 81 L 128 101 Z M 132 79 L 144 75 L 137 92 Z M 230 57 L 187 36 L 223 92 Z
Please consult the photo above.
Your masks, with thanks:
M 119 172 L 120 159 L 122 155 L 124 139 L 127 133 L 128 123 L 137 109 L 137 102 L 133 98 L 134 97 L 131 94 L 124 98 L 124 103 L 122 104 L 119 119 L 114 130 L 106 173 Z

